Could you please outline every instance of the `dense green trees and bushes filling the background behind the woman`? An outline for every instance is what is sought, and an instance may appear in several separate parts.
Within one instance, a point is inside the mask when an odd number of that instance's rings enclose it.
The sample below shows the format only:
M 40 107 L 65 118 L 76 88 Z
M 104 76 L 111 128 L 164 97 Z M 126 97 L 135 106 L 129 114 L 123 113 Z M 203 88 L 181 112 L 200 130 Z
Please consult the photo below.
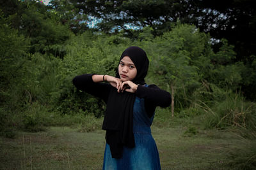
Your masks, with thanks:
M 121 53 L 137 45 L 150 60 L 147 83 L 172 94 L 172 106 L 159 115 L 193 119 L 205 129 L 232 127 L 255 141 L 253 1 L 12 0 L 0 7 L 2 135 L 93 124 L 105 105 L 77 90 L 72 78 L 114 76 Z M 92 19 L 99 23 L 88 27 Z

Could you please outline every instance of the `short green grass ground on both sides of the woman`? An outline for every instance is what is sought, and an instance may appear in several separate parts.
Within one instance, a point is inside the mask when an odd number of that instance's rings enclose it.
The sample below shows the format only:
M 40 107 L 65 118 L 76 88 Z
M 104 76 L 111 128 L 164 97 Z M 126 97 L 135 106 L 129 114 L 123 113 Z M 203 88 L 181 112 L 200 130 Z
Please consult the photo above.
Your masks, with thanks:
M 182 125 L 152 125 L 162 169 L 228 169 L 224 149 L 236 142 L 231 132 L 196 130 Z M 101 169 L 104 131 L 79 132 L 48 127 L 44 132 L 18 132 L 0 138 L 0 169 Z

